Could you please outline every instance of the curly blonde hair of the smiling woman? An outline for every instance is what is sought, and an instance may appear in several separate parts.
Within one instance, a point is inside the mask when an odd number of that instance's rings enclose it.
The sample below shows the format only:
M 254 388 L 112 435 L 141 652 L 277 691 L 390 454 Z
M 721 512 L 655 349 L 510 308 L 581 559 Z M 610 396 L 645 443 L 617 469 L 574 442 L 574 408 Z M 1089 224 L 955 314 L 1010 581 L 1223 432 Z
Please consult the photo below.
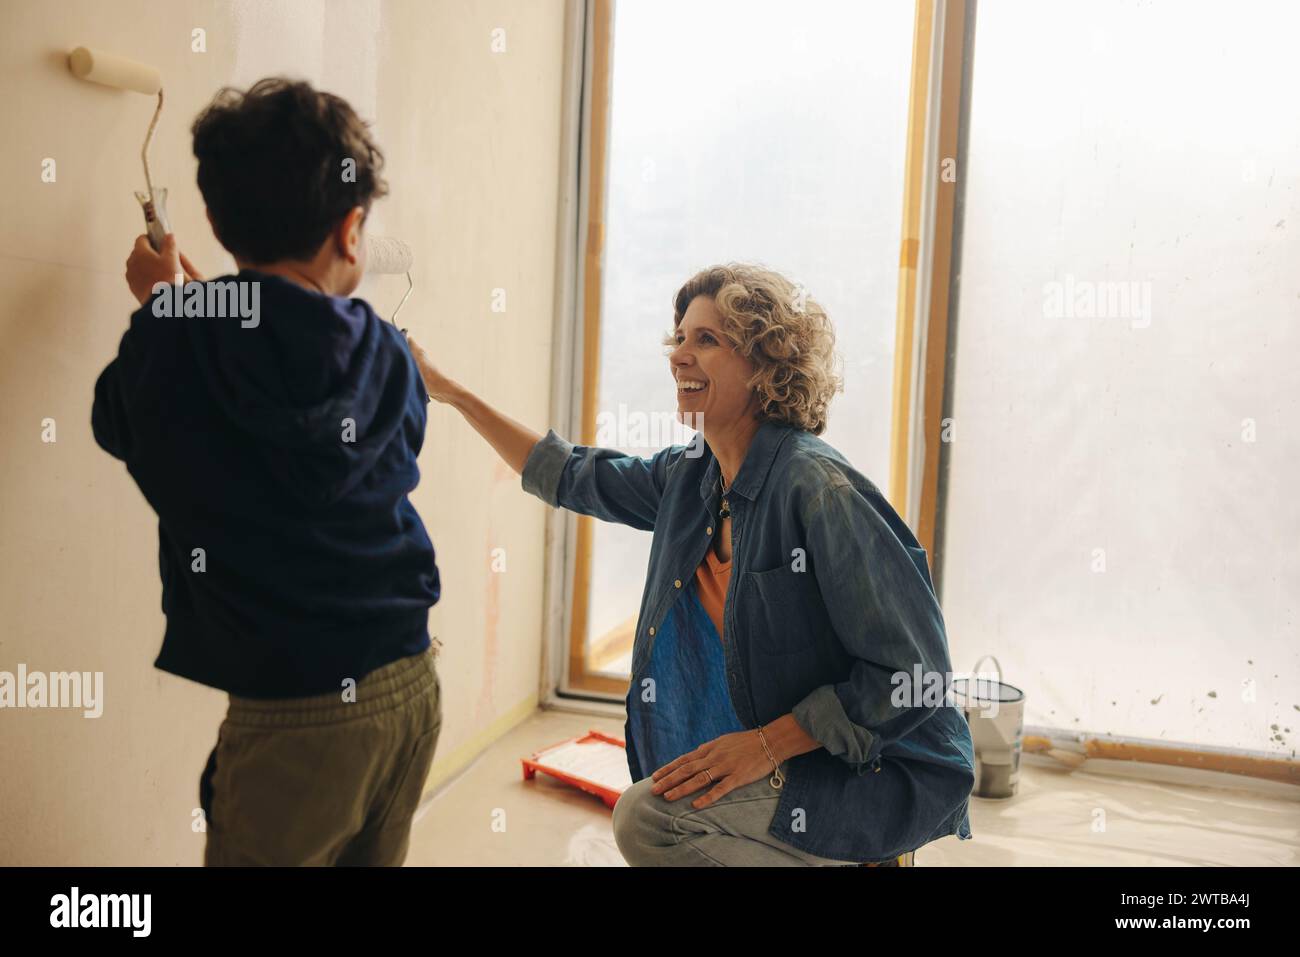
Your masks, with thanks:
M 831 399 L 844 390 L 836 373 L 835 328 L 826 309 L 772 269 L 750 263 L 714 265 L 677 290 L 673 332 L 664 335 L 664 346 L 677 345 L 676 329 L 701 295 L 714 300 L 723 334 L 755 365 L 746 385 L 758 393 L 757 417 L 820 436 Z

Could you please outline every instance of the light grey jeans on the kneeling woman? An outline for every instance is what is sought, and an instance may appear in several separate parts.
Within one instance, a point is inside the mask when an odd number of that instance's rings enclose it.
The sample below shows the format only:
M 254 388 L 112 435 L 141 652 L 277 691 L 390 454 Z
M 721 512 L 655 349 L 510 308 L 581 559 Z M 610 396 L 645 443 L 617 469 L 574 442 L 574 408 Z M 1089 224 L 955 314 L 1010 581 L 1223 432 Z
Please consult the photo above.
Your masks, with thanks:
M 781 774 L 786 765 L 781 765 Z M 633 867 L 820 867 L 857 861 L 816 857 L 767 832 L 781 793 L 767 778 L 736 788 L 696 810 L 692 802 L 706 788 L 670 801 L 650 793 L 655 781 L 642 778 L 614 806 L 614 840 Z

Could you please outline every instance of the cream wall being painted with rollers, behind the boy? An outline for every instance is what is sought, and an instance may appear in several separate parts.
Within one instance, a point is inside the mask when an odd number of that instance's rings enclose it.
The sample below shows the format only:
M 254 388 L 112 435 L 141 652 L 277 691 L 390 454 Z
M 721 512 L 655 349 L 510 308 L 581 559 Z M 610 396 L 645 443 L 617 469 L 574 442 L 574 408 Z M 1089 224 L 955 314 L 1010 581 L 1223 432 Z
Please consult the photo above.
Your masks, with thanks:
M 562 0 L 5 3 L 0 77 L 0 670 L 104 672 L 104 713 L 0 711 L 0 865 L 194 865 L 198 778 L 225 698 L 156 671 L 153 515 L 90 430 L 92 387 L 134 306 L 122 263 L 152 101 L 72 77 L 75 46 L 159 66 L 151 152 L 182 248 L 231 267 L 194 185 L 188 125 L 222 85 L 303 77 L 373 120 L 391 195 L 376 231 L 415 248 L 403 324 L 451 376 L 546 426 Z M 493 52 L 491 31 L 506 49 Z M 205 52 L 191 31 L 205 31 Z M 42 163 L 56 160 L 56 182 Z M 406 281 L 368 281 L 386 313 Z M 507 311 L 491 311 L 493 290 Z M 42 441 L 53 419 L 56 441 Z M 446 407 L 416 507 L 438 550 L 445 724 L 436 787 L 537 701 L 545 506 Z M 491 550 L 506 571 L 493 572 Z

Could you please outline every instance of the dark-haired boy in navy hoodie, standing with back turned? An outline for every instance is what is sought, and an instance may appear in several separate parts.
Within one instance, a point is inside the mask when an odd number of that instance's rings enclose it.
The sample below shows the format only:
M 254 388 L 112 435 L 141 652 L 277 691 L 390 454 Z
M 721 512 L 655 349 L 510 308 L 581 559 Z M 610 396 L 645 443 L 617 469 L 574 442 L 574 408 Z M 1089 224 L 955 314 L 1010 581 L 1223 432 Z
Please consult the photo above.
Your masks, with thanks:
M 155 666 L 230 696 L 204 863 L 400 865 L 442 724 L 439 581 L 407 498 L 424 385 L 344 298 L 384 156 L 347 103 L 280 78 L 222 90 L 192 134 L 239 272 L 199 285 L 174 237 L 140 237 L 91 419 L 159 516 Z

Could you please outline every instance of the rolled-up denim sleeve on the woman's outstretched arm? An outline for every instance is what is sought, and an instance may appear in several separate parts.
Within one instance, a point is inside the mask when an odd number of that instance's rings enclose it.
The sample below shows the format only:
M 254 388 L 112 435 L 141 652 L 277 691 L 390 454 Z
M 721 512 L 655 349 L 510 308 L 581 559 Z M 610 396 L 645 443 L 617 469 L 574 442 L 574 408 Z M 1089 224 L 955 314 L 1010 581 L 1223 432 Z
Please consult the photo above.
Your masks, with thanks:
M 547 429 L 524 460 L 521 484 L 552 508 L 650 531 L 671 465 L 685 451 L 686 446 L 675 445 L 642 459 L 573 445 Z

